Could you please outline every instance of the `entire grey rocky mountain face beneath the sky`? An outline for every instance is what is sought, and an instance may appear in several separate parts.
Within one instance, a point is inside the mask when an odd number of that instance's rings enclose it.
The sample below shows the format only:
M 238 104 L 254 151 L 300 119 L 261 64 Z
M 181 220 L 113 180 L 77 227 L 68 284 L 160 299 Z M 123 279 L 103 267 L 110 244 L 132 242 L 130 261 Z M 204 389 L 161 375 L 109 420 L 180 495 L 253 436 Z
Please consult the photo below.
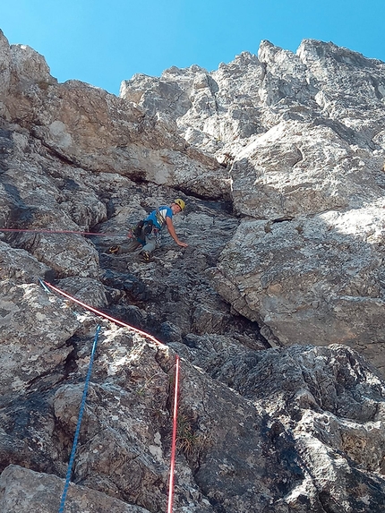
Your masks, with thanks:
M 331 42 L 116 97 L 0 32 L 0 511 L 385 511 L 384 162 Z

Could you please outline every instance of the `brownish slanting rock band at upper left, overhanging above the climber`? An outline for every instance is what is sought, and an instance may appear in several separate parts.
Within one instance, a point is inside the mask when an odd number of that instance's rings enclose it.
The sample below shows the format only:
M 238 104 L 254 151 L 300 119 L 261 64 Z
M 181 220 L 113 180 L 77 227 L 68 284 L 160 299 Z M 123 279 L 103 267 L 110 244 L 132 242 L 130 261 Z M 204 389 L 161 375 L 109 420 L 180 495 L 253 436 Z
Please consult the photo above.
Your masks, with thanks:
M 68 162 L 176 186 L 184 185 L 188 173 L 196 193 L 201 187 L 213 197 L 227 193 L 216 159 L 189 150 L 162 116 L 145 116 L 133 103 L 81 81 L 58 84 L 44 57 L 30 47 L 7 48 L 4 36 L 2 45 L 5 119 L 28 127 Z M 210 178 L 202 176 L 202 167 L 210 169 Z

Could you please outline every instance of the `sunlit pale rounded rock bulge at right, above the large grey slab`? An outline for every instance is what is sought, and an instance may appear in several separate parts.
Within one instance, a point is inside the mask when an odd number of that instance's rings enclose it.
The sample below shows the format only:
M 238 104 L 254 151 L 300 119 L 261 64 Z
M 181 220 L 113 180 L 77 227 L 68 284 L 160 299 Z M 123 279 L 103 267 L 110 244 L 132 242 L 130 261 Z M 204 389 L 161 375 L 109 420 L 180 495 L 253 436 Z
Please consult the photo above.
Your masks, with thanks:
M 260 219 L 357 209 L 383 197 L 383 159 L 328 126 L 282 121 L 238 153 L 235 208 Z

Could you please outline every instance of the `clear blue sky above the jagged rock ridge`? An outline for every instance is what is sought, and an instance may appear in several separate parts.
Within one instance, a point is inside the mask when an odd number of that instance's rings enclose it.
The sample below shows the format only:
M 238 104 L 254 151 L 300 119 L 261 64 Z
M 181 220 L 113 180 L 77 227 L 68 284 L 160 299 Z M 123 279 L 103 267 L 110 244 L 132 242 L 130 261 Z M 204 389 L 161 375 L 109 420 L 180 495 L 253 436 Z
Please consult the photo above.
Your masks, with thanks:
M 212 71 L 262 39 L 295 52 L 304 38 L 385 61 L 384 0 L 17 0 L 0 4 L 11 44 L 46 57 L 58 81 L 114 94 L 134 73 Z

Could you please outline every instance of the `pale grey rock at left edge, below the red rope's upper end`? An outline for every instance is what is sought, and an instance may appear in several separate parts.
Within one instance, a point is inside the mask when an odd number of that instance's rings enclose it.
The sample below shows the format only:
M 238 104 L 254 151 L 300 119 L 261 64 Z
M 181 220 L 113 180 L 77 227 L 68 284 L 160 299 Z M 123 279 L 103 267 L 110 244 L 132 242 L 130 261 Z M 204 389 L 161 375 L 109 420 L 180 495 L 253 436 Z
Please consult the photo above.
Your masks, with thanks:
M 65 304 L 53 303 L 41 286 L 1 282 L 0 351 L 2 402 L 25 392 L 42 376 L 58 380 L 79 322 Z M 22 329 L 20 328 L 22 327 Z

